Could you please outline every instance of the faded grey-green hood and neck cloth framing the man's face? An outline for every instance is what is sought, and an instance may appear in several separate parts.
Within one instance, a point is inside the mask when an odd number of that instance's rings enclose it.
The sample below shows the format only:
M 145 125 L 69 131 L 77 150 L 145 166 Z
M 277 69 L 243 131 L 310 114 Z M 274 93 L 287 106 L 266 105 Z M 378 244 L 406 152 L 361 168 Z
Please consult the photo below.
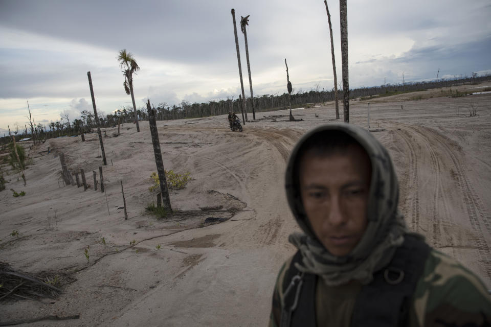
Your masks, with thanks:
M 326 143 L 336 144 L 329 134 L 346 134 L 368 154 L 371 161 L 371 182 L 367 205 L 368 224 L 362 239 L 345 256 L 334 256 L 317 239 L 304 212 L 299 187 L 299 157 L 305 144 L 314 136 L 325 137 Z M 297 143 L 286 168 L 286 195 L 292 212 L 304 234 L 289 237 L 302 252 L 300 271 L 320 275 L 328 285 L 340 285 L 353 279 L 368 284 L 373 273 L 386 266 L 407 232 L 404 217 L 398 212 L 399 186 L 387 150 L 364 129 L 346 123 L 329 124 L 307 132 Z

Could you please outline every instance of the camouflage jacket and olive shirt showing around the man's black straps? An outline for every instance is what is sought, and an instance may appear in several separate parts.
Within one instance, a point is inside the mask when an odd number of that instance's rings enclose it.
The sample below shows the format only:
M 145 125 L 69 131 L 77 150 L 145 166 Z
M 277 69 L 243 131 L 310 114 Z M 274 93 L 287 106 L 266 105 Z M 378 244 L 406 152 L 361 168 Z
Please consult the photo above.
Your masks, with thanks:
M 280 322 L 283 279 L 292 258 L 280 269 L 273 293 L 270 327 Z M 362 285 L 330 287 L 318 279 L 316 321 L 318 326 L 349 326 Z M 480 279 L 449 256 L 432 250 L 416 284 L 407 326 L 491 326 L 491 300 Z

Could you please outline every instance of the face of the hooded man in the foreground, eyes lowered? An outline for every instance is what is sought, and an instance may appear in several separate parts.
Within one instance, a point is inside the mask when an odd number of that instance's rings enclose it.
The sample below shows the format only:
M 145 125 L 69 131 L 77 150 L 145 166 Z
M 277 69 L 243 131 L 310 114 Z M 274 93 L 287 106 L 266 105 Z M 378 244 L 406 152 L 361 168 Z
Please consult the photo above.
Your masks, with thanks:
M 315 235 L 331 254 L 349 254 L 368 223 L 368 155 L 360 146 L 329 156 L 307 151 L 299 177 L 303 207 Z

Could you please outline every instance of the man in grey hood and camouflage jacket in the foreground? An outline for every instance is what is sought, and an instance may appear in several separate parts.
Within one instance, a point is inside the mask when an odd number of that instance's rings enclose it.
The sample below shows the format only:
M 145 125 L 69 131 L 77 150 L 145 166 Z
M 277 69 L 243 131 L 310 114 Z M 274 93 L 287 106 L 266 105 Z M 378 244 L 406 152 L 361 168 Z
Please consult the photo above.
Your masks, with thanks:
M 270 326 L 491 326 L 480 279 L 410 232 L 387 150 L 330 124 L 305 134 L 286 169 L 303 233 L 281 267 Z

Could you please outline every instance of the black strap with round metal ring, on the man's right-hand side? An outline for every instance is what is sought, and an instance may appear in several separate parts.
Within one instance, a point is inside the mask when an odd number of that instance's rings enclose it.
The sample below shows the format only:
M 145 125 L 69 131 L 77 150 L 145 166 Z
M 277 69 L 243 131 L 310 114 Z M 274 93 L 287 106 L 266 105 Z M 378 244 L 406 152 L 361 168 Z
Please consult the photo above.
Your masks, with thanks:
M 351 326 L 404 326 L 410 299 L 423 273 L 431 248 L 414 235 L 405 235 L 387 267 L 374 273 L 356 298 Z

